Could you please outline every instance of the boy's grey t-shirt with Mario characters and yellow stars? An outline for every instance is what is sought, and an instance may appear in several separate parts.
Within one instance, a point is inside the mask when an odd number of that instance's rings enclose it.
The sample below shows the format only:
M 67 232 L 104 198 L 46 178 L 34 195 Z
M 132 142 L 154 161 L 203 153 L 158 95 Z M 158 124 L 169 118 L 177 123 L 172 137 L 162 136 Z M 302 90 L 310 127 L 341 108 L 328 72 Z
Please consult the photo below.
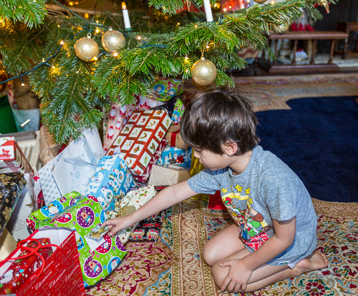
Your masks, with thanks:
M 261 146 L 253 149 L 249 164 L 240 175 L 233 175 L 229 167 L 218 171 L 204 169 L 188 184 L 197 193 L 214 194 L 221 190 L 223 202 L 250 252 L 274 234 L 272 219 L 285 221 L 296 216 L 293 244 L 268 264 L 293 267 L 315 250 L 317 218 L 310 194 L 284 162 Z

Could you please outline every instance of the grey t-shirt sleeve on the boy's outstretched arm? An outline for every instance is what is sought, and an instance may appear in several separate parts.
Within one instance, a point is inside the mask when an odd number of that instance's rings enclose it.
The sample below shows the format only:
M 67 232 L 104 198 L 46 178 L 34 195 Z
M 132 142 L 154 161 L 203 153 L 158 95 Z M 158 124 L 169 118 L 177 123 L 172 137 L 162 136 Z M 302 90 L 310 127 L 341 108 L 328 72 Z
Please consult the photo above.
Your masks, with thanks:
M 214 194 L 220 190 L 220 180 L 223 170 L 210 171 L 205 168 L 195 176 L 188 179 L 188 185 L 191 190 L 197 193 Z

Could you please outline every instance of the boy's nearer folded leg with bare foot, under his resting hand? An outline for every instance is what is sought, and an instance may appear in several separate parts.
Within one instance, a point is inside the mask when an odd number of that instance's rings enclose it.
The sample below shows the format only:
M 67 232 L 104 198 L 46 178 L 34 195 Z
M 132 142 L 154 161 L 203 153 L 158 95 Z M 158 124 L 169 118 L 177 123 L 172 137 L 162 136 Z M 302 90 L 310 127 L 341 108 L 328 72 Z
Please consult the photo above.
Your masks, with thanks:
M 245 254 L 246 255 L 249 254 L 249 251 L 247 251 L 246 249 L 239 251 L 236 255 L 233 254 L 232 256 L 229 256 L 228 258 L 224 259 L 223 261 L 231 260 L 231 259 L 235 259 L 235 258 L 243 258 L 246 256 Z M 230 268 L 227 266 L 222 267 L 219 264 L 220 264 L 220 262 L 214 264 L 214 266 L 212 267 L 212 273 L 214 276 L 215 283 L 219 287 L 221 287 Z M 257 290 L 267 287 L 270 284 L 277 283 L 279 281 L 283 281 L 283 280 L 291 278 L 291 277 L 299 276 L 299 275 L 301 275 L 305 272 L 308 272 L 308 271 L 324 268 L 327 266 L 327 264 L 328 263 L 327 263 L 327 259 L 325 258 L 325 256 L 322 255 L 317 250 L 315 250 L 307 258 L 298 262 L 293 269 L 289 268 L 287 265 L 275 266 L 275 265 L 264 264 L 264 265 L 260 266 L 259 268 L 257 268 L 256 270 L 254 270 L 254 272 L 252 273 L 252 275 L 249 279 L 249 282 L 248 282 L 248 285 L 247 285 L 247 288 L 245 291 L 236 290 L 236 289 L 234 289 L 232 291 L 234 291 L 234 292 L 257 291 Z M 229 285 L 227 287 L 229 287 Z M 226 289 L 227 289 L 227 287 L 226 287 Z

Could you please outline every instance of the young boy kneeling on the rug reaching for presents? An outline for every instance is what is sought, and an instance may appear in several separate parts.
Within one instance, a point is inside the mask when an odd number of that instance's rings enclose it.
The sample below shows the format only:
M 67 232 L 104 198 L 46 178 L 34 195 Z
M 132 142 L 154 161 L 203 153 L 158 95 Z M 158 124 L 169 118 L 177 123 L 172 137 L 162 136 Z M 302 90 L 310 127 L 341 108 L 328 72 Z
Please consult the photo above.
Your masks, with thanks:
M 206 169 L 163 189 L 133 214 L 104 222 L 113 227 L 110 235 L 197 193 L 221 190 L 235 223 L 204 245 L 203 258 L 222 291 L 253 292 L 326 267 L 316 250 L 311 197 L 286 164 L 258 146 L 256 125 L 251 102 L 239 93 L 197 94 L 180 134 Z

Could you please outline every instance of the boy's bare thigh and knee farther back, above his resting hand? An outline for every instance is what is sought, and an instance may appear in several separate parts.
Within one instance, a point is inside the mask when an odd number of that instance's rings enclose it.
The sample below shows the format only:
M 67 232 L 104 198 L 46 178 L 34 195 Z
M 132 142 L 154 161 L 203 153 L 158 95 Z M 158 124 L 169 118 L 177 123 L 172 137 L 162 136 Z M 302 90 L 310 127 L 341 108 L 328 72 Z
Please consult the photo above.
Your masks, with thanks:
M 205 243 L 203 258 L 209 266 L 213 266 L 241 249 L 246 248 L 239 238 L 237 225 L 231 224 Z

